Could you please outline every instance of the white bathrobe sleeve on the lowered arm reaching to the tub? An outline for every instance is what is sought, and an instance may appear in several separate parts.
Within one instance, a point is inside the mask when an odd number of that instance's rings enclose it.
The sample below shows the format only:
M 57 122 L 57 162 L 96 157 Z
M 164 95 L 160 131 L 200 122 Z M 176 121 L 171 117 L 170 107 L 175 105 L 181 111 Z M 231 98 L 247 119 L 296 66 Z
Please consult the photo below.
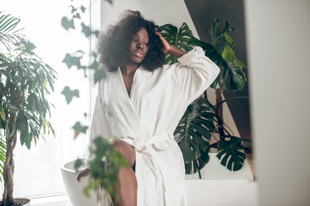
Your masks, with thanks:
M 103 82 L 100 81 L 98 84 L 98 95 L 96 97 L 95 109 L 93 113 L 93 119 L 91 124 L 91 131 L 90 131 L 90 147 L 95 147 L 94 140 L 97 137 L 102 137 L 104 139 L 111 139 L 112 132 L 111 127 L 107 122 L 106 119 L 106 110 L 103 106 L 102 101 L 102 84 Z M 91 160 L 91 157 L 88 158 L 88 162 Z

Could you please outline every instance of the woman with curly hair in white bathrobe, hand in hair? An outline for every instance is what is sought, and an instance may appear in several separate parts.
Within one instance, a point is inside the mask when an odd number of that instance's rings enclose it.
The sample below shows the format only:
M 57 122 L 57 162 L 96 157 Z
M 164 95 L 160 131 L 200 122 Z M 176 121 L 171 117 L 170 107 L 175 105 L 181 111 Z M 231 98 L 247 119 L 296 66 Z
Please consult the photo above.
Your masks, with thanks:
M 99 83 L 91 138 L 119 138 L 113 146 L 132 166 L 118 173 L 119 206 L 186 206 L 184 161 L 173 132 L 219 68 L 201 47 L 171 46 L 138 11 L 124 11 L 101 34 L 97 50 L 107 75 Z M 162 65 L 165 54 L 180 63 Z

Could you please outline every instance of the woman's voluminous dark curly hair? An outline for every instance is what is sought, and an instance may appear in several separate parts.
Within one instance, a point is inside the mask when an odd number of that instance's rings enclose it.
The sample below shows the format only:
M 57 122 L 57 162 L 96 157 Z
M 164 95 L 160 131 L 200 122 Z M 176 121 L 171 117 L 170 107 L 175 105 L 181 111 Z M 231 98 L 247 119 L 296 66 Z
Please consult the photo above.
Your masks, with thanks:
M 96 42 L 99 63 L 104 69 L 112 72 L 119 66 L 126 65 L 132 37 L 140 28 L 145 28 L 150 38 L 149 50 L 142 65 L 150 71 L 162 66 L 165 54 L 161 51 L 162 43 L 155 34 L 160 32 L 159 27 L 153 21 L 146 20 L 139 11 L 125 10 L 115 24 L 109 25 L 100 34 Z

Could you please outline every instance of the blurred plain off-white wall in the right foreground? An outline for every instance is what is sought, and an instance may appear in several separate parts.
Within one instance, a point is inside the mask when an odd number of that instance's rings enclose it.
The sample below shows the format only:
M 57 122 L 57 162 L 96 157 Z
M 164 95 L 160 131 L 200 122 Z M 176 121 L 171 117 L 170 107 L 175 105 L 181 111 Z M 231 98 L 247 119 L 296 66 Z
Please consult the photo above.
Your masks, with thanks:
M 261 206 L 310 205 L 310 1 L 245 0 Z

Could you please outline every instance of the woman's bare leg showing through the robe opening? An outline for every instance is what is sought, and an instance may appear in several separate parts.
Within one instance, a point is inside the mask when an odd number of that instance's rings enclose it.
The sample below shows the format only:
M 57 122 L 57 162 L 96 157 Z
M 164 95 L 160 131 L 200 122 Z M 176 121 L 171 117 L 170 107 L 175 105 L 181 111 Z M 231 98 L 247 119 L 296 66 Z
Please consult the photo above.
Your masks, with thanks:
M 128 161 L 131 167 L 122 167 L 118 172 L 120 186 L 116 188 L 116 193 L 120 197 L 120 202 L 116 206 L 137 206 L 137 178 L 132 169 L 136 161 L 134 148 L 124 141 L 115 141 L 115 149 Z

